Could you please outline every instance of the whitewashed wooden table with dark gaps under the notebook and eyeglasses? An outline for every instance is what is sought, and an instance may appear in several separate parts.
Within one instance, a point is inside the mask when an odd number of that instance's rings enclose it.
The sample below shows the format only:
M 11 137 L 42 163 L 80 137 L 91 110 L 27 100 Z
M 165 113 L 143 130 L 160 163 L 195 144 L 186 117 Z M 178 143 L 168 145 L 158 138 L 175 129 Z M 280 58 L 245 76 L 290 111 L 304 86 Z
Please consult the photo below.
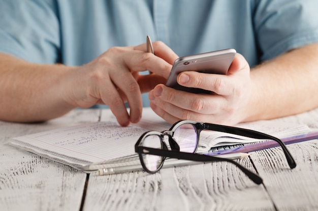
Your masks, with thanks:
M 34 124 L 0 121 L 0 210 L 318 210 L 318 141 L 250 153 L 237 160 L 258 172 L 262 185 L 227 162 L 109 176 L 72 167 L 8 145 L 12 137 L 99 121 L 103 110 L 74 110 Z M 318 109 L 272 121 L 318 129 Z

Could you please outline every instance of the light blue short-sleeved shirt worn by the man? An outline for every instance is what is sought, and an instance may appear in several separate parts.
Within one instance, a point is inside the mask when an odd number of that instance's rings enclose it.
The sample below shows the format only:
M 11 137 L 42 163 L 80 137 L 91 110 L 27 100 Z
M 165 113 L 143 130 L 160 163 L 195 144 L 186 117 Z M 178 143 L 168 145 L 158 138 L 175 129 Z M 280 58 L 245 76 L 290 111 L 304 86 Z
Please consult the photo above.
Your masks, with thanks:
M 82 65 L 149 34 L 179 56 L 234 48 L 253 67 L 316 43 L 316 8 L 318 1 L 301 0 L 2 0 L 0 51 Z

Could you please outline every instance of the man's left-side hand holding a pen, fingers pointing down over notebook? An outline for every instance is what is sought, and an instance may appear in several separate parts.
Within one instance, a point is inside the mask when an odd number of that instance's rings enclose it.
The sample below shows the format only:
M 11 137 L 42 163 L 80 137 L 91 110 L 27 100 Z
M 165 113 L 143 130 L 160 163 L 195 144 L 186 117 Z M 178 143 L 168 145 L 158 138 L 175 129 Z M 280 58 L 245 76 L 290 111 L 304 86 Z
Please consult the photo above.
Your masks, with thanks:
M 105 104 L 120 125 L 138 122 L 142 114 L 141 94 L 165 82 L 171 62 L 177 57 L 162 42 L 154 42 L 153 45 L 156 55 L 163 58 L 146 53 L 144 44 L 114 47 L 90 63 L 76 68 L 65 78 L 65 101 L 81 108 Z M 145 70 L 155 74 L 139 75 L 140 71 Z M 130 106 L 130 115 L 124 105 L 126 101 Z

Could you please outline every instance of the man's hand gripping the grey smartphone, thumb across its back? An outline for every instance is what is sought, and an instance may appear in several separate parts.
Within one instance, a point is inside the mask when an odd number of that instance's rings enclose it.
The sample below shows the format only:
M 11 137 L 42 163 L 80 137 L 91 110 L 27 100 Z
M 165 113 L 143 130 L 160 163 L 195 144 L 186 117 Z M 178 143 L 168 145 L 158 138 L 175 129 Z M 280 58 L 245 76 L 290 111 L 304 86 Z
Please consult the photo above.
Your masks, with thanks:
M 237 54 L 227 75 L 186 71 L 178 75 L 184 87 L 201 88 L 213 94 L 193 94 L 158 85 L 149 93 L 151 108 L 165 120 L 180 119 L 235 124 L 242 120 L 251 82 L 249 65 Z

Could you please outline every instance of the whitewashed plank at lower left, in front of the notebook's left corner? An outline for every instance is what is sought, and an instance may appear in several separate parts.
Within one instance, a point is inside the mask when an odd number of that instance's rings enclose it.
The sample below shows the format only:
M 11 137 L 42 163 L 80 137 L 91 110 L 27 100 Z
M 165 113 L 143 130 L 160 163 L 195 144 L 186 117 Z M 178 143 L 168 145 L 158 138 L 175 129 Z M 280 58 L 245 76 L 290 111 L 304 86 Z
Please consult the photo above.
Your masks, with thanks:
M 10 146 L 0 159 L 2 210 L 79 210 L 86 174 Z

